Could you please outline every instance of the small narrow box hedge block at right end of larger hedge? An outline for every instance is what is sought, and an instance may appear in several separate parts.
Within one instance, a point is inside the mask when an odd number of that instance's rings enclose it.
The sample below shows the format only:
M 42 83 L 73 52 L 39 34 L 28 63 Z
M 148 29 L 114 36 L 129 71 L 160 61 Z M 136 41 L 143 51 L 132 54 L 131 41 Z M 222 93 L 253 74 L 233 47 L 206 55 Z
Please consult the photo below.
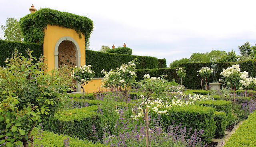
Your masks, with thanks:
M 214 121 L 216 121 L 215 135 L 217 137 L 224 135 L 228 125 L 226 113 L 223 111 L 215 111 Z

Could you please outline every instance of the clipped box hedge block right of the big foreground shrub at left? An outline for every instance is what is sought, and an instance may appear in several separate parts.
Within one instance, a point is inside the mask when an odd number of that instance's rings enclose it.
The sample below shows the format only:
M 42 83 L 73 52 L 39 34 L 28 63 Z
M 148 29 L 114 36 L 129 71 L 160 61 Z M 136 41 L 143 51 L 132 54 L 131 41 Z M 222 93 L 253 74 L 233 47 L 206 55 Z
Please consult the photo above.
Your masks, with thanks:
M 97 105 L 88 107 L 58 111 L 49 121 L 43 123 L 45 129 L 54 133 L 65 134 L 79 139 L 88 139 L 96 142 L 102 138 L 103 128 L 101 116 L 96 113 Z M 95 125 L 96 135 L 92 132 L 92 125 Z

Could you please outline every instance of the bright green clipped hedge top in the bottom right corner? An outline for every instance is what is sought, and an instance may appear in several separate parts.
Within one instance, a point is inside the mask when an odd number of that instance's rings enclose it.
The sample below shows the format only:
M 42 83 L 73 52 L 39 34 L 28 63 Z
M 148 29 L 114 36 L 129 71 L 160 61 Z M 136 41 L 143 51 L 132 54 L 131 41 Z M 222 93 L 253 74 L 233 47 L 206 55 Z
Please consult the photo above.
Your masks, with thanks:
M 224 147 L 256 147 L 256 111 L 233 133 Z

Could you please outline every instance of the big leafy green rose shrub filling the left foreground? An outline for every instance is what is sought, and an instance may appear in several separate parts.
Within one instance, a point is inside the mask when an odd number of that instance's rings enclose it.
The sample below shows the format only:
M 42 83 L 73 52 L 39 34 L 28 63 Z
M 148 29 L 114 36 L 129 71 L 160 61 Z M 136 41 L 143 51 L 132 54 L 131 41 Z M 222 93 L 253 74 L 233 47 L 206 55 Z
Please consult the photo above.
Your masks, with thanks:
M 22 141 L 23 145 L 33 128 L 62 105 L 72 81 L 64 68 L 45 73 L 44 58 L 33 63 L 37 59 L 31 53 L 28 50 L 29 58 L 25 58 L 15 50 L 6 60 L 6 68 L 0 67 L 1 136 L 8 136 L 8 142 Z M 0 144 L 2 141 L 4 138 Z

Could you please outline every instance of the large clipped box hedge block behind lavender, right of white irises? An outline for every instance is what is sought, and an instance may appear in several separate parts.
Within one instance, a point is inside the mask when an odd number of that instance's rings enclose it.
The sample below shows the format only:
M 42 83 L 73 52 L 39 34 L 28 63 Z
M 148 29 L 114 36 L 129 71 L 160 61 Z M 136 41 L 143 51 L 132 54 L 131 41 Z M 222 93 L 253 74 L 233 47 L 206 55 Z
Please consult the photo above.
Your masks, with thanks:
M 205 107 L 202 105 L 188 105 L 188 106 L 173 106 L 168 110 L 168 122 L 172 125 L 182 124 L 182 127 L 186 125 L 187 130 L 192 127 L 192 130 L 198 132 L 200 129 L 204 130 L 201 137 L 203 141 L 211 142 L 215 134 L 215 121 L 214 121 L 215 109 L 212 107 Z

